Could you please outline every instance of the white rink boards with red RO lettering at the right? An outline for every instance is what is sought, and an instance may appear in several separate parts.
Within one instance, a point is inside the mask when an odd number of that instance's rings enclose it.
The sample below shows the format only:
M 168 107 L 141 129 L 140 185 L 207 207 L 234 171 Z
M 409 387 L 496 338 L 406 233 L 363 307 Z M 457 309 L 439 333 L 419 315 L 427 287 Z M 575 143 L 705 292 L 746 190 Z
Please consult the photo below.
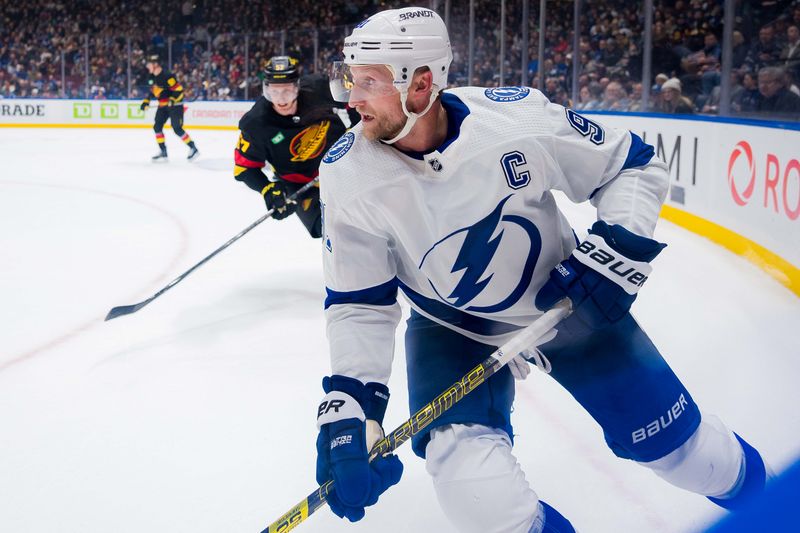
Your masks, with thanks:
M 669 205 L 800 267 L 800 131 L 678 117 L 592 118 L 656 148 L 670 168 Z

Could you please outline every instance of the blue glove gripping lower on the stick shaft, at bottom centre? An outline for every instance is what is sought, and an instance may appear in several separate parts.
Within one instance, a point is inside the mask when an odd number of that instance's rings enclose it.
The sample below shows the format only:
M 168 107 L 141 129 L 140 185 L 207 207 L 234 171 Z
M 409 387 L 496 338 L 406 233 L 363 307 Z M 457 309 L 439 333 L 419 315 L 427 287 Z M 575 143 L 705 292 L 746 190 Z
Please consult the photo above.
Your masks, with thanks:
M 396 455 L 369 462 L 369 450 L 384 436 L 381 423 L 389 389 L 337 375 L 324 378 L 322 388 L 326 394 L 317 411 L 317 483 L 333 479 L 327 498 L 331 511 L 356 522 L 403 474 Z

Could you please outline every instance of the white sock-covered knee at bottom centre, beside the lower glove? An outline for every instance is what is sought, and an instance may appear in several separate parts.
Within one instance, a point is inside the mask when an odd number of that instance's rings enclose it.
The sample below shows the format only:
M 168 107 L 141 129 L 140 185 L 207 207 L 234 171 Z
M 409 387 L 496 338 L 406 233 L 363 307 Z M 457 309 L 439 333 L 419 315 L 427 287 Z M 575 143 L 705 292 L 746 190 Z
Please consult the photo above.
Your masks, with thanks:
M 426 469 L 458 531 L 527 533 L 539 500 L 502 430 L 451 424 L 431 431 Z

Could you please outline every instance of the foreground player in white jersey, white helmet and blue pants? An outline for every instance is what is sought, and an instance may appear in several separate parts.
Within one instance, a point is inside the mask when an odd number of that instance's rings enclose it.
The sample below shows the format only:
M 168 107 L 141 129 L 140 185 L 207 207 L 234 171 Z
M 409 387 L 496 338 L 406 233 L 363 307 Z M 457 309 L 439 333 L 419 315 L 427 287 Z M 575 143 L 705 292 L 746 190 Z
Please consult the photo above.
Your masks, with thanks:
M 735 509 L 765 484 L 759 453 L 702 413 L 629 313 L 665 246 L 652 239 L 668 186 L 653 148 L 527 87 L 446 90 L 441 18 L 389 10 L 358 25 L 332 78 L 362 117 L 320 167 L 332 375 L 318 413 L 317 480 L 358 520 L 402 465 L 368 462 L 382 436 L 397 292 L 411 412 L 564 297 L 573 314 L 536 361 L 603 430 L 619 457 Z M 590 200 L 579 242 L 551 190 Z M 512 453 L 510 368 L 412 439 L 459 531 L 569 532 Z M 535 480 L 534 480 L 535 481 Z

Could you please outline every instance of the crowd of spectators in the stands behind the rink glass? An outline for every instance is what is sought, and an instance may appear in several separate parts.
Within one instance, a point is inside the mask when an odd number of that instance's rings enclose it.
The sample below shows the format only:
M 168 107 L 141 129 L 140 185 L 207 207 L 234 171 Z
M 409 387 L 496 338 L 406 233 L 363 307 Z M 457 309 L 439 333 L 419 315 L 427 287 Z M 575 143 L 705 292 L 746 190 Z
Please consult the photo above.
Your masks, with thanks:
M 143 58 L 158 53 L 187 88 L 187 99 L 252 99 L 271 56 L 289 53 L 304 71 L 324 71 L 354 24 L 406 5 L 442 14 L 449 6 L 450 27 L 460 29 L 451 32 L 452 85 L 513 85 L 523 74 L 523 2 L 505 4 L 501 35 L 500 2 L 475 0 L 470 40 L 466 0 L 0 0 L 0 98 L 140 98 Z M 583 110 L 719 111 L 723 0 L 655 0 L 647 109 L 641 2 L 583 2 L 577 49 L 573 2 L 548 2 L 544 80 L 538 79 L 538 2 L 529 4 L 526 79 L 551 100 Z M 732 111 L 800 116 L 799 28 L 800 0 L 736 2 Z

